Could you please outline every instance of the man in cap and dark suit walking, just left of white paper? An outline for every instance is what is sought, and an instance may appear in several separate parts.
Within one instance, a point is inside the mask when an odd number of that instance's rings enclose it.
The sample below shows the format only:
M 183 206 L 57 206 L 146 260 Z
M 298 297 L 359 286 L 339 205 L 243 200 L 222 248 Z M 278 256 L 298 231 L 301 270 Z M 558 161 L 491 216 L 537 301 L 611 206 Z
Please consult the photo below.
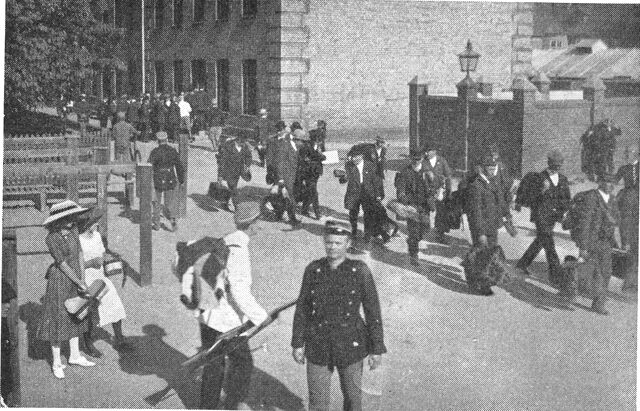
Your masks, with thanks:
M 300 220 L 296 218 L 296 200 L 295 200 L 295 183 L 296 174 L 298 172 L 298 157 L 300 150 L 299 143 L 296 138 L 304 136 L 304 131 L 296 129 L 294 135 L 287 134 L 282 140 L 278 140 L 275 162 L 276 173 L 278 176 L 278 185 L 286 189 L 284 194 L 286 211 L 289 214 L 289 223 L 293 226 L 300 224 Z M 295 137 L 295 138 L 294 138 Z M 278 215 L 279 214 L 279 215 Z M 276 218 L 282 218 L 280 210 L 276 210 Z

